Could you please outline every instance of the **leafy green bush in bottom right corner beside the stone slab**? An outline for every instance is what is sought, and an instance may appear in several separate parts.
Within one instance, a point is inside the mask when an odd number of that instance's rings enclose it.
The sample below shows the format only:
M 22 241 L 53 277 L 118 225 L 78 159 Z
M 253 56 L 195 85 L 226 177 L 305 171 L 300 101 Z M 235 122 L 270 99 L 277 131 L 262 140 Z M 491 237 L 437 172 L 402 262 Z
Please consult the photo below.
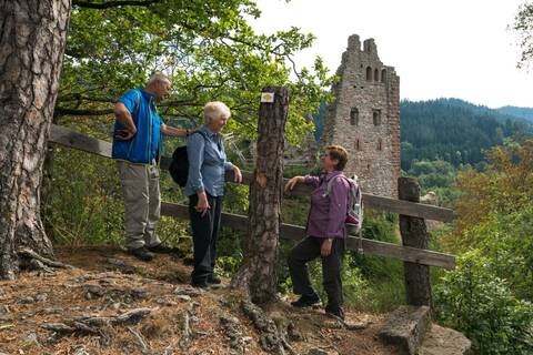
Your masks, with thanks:
M 531 354 L 533 306 L 513 295 L 480 251 L 459 258 L 434 287 L 439 320 L 463 332 L 482 355 Z

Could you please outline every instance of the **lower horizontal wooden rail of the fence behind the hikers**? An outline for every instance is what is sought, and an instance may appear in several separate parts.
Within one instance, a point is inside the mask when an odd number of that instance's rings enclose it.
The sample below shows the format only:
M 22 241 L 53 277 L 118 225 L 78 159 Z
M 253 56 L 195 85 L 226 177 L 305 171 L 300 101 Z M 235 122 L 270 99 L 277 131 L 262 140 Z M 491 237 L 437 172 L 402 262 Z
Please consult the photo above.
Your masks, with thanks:
M 179 220 L 189 220 L 189 207 L 181 204 L 163 202 L 161 204 L 161 214 Z M 222 213 L 221 224 L 222 226 L 245 232 L 248 230 L 248 217 L 232 213 Z M 280 227 L 280 237 L 282 239 L 300 241 L 304 236 L 305 229 L 302 226 L 283 223 Z M 349 250 L 356 251 L 359 245 L 359 237 L 348 237 L 346 247 Z M 449 270 L 455 268 L 455 256 L 450 254 L 372 241 L 364 237 L 362 239 L 362 247 L 365 254 L 394 257 L 406 262 L 440 266 Z

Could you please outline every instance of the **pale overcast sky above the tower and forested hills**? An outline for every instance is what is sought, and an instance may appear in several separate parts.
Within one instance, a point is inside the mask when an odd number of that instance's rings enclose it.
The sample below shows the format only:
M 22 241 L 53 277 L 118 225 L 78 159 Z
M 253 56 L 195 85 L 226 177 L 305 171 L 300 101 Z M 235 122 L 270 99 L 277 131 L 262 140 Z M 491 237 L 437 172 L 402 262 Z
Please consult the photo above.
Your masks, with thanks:
M 373 38 L 400 75 L 402 99 L 459 98 L 490 108 L 533 108 L 533 72 L 517 69 L 517 34 L 509 29 L 524 0 L 257 0 L 259 33 L 298 27 L 316 37 L 295 57 L 316 55 L 334 73 L 350 34 Z M 533 65 L 532 65 L 533 67 Z

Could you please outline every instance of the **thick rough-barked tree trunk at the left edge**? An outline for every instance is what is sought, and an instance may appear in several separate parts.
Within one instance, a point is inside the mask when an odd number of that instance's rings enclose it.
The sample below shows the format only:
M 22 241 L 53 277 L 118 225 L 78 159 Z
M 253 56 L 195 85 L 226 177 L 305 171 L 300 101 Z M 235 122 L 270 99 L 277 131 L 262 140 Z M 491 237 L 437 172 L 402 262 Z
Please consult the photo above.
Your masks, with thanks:
M 0 278 L 22 248 L 51 256 L 41 173 L 59 89 L 70 0 L 0 0 Z

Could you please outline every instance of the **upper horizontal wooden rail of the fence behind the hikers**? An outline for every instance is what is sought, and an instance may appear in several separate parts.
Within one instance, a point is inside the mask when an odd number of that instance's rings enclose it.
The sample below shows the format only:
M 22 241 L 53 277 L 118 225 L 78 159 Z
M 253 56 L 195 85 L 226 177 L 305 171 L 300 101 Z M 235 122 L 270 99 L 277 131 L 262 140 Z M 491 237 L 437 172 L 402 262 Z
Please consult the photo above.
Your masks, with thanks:
M 72 131 L 68 128 L 52 124 L 50 130 L 49 140 L 53 143 L 64 146 L 73 148 L 84 152 L 98 154 L 105 158 L 111 158 L 111 143 L 90 138 Z M 170 158 L 163 156 L 161 159 L 161 169 L 168 169 L 170 165 Z M 251 172 L 243 171 L 243 184 L 250 184 L 253 174 Z M 232 181 L 232 176 L 227 176 L 228 181 Z M 286 179 L 285 179 L 286 182 Z M 312 189 L 308 185 L 296 185 L 290 194 L 294 195 L 309 195 Z M 425 220 L 434 220 L 442 222 L 451 222 L 455 215 L 453 210 L 433 206 L 430 204 L 414 203 L 402 200 L 395 200 L 391 197 L 376 196 L 369 193 L 363 193 L 364 206 L 368 209 L 374 209 L 379 211 L 392 212 L 398 214 L 404 214 Z

